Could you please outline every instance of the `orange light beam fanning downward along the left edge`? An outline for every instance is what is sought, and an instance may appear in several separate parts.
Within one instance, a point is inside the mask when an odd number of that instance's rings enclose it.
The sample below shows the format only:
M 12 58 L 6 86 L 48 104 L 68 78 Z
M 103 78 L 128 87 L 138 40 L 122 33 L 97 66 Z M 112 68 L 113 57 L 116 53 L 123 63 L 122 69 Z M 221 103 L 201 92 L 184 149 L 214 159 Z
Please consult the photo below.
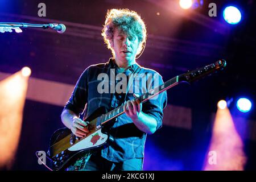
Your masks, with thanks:
M 15 159 L 27 86 L 28 76 L 22 71 L 0 81 L 0 169 L 10 169 Z

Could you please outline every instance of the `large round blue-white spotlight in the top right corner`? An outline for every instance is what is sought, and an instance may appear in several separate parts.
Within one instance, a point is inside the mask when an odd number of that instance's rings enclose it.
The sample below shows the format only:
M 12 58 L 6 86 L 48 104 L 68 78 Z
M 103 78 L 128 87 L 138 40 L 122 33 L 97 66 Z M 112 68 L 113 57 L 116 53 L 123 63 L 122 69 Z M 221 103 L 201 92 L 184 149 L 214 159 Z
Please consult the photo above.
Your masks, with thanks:
M 229 24 L 237 24 L 241 20 L 241 12 L 234 6 L 228 6 L 223 11 L 223 16 Z

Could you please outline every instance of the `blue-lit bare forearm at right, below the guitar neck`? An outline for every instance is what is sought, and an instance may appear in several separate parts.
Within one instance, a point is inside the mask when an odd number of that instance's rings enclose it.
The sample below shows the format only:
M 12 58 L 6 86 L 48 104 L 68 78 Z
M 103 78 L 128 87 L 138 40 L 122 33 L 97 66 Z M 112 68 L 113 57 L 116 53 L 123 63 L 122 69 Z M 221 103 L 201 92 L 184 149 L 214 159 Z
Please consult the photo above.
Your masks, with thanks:
M 138 127 L 139 130 L 143 131 L 147 134 L 153 134 L 156 131 L 157 122 L 154 117 L 151 115 L 145 114 L 142 111 L 139 112 L 138 117 L 131 118 L 135 126 Z

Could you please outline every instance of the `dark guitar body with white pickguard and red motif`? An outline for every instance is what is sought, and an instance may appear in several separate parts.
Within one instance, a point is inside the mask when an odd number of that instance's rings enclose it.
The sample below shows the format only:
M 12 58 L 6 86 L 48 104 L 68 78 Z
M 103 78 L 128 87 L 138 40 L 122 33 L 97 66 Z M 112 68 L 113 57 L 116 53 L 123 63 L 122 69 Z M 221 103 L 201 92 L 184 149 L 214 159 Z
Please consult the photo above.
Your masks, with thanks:
M 85 121 L 90 122 L 104 113 L 106 113 L 105 108 L 100 107 Z M 52 162 L 53 170 L 64 170 L 75 162 L 81 152 L 83 153 L 82 155 L 89 157 L 93 152 L 93 148 L 101 147 L 108 142 L 109 136 L 103 127 L 100 129 L 93 128 L 90 131 L 84 138 L 76 137 L 67 127 L 56 130 L 52 134 L 47 154 Z

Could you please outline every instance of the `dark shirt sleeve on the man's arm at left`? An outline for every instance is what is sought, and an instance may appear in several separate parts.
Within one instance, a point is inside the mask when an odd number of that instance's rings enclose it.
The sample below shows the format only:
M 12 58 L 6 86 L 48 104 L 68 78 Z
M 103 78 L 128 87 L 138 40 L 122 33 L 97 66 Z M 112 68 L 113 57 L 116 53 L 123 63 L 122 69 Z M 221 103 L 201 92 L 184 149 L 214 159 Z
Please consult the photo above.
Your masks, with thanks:
M 69 98 L 64 109 L 72 110 L 74 113 L 79 115 L 84 110 L 85 104 L 88 98 L 88 71 L 89 68 L 86 68 L 85 71 L 79 77 L 79 80 L 76 82 L 76 86 Z

